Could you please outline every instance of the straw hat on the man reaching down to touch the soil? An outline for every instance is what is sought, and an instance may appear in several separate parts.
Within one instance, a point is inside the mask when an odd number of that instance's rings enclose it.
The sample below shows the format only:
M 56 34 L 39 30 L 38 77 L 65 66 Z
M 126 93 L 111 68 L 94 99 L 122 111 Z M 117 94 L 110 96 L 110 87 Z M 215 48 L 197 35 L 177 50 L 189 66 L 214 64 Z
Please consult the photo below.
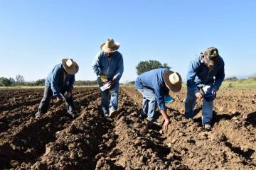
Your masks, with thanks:
M 164 72 L 164 82 L 171 91 L 178 92 L 181 90 L 182 79 L 177 72 L 166 70 Z

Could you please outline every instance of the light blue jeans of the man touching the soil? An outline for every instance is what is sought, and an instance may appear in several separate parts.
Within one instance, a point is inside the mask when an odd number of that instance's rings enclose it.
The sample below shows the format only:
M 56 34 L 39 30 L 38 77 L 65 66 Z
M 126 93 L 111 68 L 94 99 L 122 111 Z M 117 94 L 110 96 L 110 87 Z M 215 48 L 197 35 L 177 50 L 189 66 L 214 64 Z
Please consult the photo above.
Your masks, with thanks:
M 142 116 L 148 120 L 154 121 L 156 115 L 156 96 L 151 89 L 137 89 L 143 96 L 142 99 Z

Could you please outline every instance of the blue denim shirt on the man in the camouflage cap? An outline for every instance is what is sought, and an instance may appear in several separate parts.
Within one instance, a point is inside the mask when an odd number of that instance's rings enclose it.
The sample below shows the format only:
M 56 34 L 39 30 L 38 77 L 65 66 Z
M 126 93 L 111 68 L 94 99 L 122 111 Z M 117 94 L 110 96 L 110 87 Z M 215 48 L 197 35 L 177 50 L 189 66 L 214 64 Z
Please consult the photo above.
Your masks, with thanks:
M 220 88 L 220 85 L 225 77 L 224 61 L 219 57 L 218 63 L 212 69 L 209 69 L 201 56 L 196 57 L 188 67 L 187 86 L 194 94 L 199 89 L 201 84 L 209 85 L 215 91 Z

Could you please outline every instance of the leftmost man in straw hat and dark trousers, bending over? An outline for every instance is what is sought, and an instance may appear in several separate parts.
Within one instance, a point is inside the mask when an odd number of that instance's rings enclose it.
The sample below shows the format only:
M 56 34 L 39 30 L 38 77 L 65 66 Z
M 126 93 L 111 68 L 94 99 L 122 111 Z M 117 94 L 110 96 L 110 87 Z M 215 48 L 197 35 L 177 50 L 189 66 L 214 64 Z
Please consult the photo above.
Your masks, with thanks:
M 58 101 L 65 101 L 68 114 L 75 117 L 75 105 L 72 96 L 75 74 L 78 72 L 78 64 L 73 59 L 63 59 L 62 63 L 55 65 L 46 78 L 46 87 L 43 98 L 38 107 L 36 118 L 47 112 L 50 98 L 56 96 Z

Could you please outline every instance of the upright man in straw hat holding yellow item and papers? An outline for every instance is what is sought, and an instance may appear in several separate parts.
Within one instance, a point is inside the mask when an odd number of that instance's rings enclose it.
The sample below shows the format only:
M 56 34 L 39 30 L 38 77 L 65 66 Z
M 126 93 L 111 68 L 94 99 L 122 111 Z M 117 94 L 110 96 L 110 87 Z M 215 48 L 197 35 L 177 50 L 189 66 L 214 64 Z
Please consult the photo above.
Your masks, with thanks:
M 97 75 L 97 83 L 100 87 L 108 84 L 107 89 L 100 90 L 102 98 L 102 112 L 107 119 L 117 114 L 119 80 L 124 72 L 123 57 L 119 49 L 119 43 L 113 39 L 107 39 L 100 46 L 100 52 L 97 53 L 92 62 L 93 72 Z M 108 100 L 110 95 L 110 102 Z

